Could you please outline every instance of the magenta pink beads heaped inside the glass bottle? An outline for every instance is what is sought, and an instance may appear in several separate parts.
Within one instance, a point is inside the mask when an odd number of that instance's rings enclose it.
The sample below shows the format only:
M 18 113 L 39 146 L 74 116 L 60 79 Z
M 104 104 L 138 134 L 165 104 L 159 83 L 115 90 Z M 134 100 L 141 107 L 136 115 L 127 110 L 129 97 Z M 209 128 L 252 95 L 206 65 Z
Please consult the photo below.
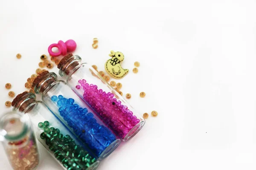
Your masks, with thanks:
M 102 119 L 112 127 L 113 130 L 124 139 L 127 133 L 140 122 L 133 115 L 133 112 L 127 106 L 122 105 L 121 101 L 117 101 L 114 94 L 93 84 L 88 84 L 85 79 L 79 80 L 80 85 L 76 85 L 77 89 L 83 89 L 84 100 L 102 117 Z

